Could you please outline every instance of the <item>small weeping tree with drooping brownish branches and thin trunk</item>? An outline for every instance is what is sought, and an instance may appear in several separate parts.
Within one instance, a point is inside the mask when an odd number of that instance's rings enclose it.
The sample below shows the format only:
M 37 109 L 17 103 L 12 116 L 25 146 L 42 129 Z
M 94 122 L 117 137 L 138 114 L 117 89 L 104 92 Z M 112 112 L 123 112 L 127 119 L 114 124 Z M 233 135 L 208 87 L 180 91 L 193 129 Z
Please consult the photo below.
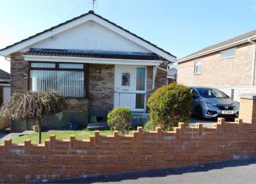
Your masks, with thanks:
M 38 143 L 41 143 L 42 118 L 55 115 L 67 108 L 67 101 L 56 92 L 14 93 L 11 99 L 1 106 L 0 115 L 17 121 L 38 120 Z

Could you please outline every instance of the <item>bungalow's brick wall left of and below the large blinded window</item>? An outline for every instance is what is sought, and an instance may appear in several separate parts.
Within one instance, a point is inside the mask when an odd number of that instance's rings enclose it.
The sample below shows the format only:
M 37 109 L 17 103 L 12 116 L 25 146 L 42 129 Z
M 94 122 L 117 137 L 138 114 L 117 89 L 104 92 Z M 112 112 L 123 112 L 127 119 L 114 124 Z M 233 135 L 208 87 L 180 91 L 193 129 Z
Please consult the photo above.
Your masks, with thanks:
M 22 53 L 11 55 L 11 94 L 14 92 L 26 92 L 28 79 L 28 62 L 24 61 Z M 88 124 L 88 99 L 67 99 L 69 107 L 59 115 L 51 115 L 43 118 L 43 129 L 68 128 L 69 121 L 77 121 L 80 128 Z M 31 130 L 33 121 L 12 121 L 11 131 L 22 132 Z

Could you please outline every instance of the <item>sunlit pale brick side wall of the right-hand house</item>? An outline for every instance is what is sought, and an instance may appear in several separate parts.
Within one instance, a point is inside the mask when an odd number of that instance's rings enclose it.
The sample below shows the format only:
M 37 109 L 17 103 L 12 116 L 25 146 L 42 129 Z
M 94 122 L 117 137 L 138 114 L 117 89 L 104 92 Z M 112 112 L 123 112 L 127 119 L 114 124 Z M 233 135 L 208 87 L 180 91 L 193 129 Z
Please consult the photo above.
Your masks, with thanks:
M 234 58 L 221 59 L 220 52 L 216 52 L 179 63 L 177 82 L 188 86 L 249 86 L 252 51 L 253 45 L 246 43 L 236 46 Z M 194 74 L 197 60 L 201 60 L 201 74 Z

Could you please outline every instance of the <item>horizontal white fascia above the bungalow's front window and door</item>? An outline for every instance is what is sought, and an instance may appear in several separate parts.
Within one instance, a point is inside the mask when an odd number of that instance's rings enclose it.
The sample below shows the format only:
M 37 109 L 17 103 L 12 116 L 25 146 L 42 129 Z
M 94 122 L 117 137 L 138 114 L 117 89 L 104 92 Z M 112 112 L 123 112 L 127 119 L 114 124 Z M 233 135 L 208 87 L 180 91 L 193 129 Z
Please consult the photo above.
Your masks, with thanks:
M 116 58 L 81 58 L 69 56 L 24 56 L 25 61 L 42 62 L 66 62 L 66 63 L 97 63 L 97 64 L 122 64 L 138 66 L 159 66 L 158 60 L 135 60 L 135 59 L 116 59 Z

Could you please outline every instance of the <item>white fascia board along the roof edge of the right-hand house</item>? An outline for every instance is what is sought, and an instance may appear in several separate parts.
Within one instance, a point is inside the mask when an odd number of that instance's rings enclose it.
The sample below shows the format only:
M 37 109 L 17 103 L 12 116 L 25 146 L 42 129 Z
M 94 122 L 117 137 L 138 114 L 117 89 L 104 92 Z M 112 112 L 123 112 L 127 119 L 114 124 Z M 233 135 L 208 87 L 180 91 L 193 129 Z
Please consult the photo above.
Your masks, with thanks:
M 231 48 L 231 47 L 233 47 L 233 46 L 236 46 L 236 45 L 239 45 L 239 44 L 242 44 L 242 43 L 247 43 L 248 40 L 254 40 L 254 39 L 256 39 L 256 35 L 255 35 L 255 36 L 252 36 L 252 37 L 250 37 L 250 38 L 246 38 L 246 39 L 243 39 L 243 40 L 239 40 L 239 41 L 234 42 L 234 43 L 230 43 L 230 44 L 228 44 L 228 45 L 223 45 L 223 46 L 218 47 L 218 48 L 213 48 L 212 50 L 205 51 L 205 52 L 203 52 L 203 53 L 197 53 L 197 54 L 195 54 L 195 55 L 193 55 L 193 56 L 189 56 L 189 57 L 187 57 L 187 58 L 178 59 L 177 62 L 178 62 L 178 63 L 182 63 L 182 62 L 187 61 L 187 60 L 189 60 L 189 59 L 197 58 L 197 57 L 200 57 L 200 56 L 204 56 L 204 55 L 206 55 L 206 54 L 214 53 L 214 52 L 216 52 L 216 51 L 221 51 L 221 50 L 226 49 L 226 48 Z

